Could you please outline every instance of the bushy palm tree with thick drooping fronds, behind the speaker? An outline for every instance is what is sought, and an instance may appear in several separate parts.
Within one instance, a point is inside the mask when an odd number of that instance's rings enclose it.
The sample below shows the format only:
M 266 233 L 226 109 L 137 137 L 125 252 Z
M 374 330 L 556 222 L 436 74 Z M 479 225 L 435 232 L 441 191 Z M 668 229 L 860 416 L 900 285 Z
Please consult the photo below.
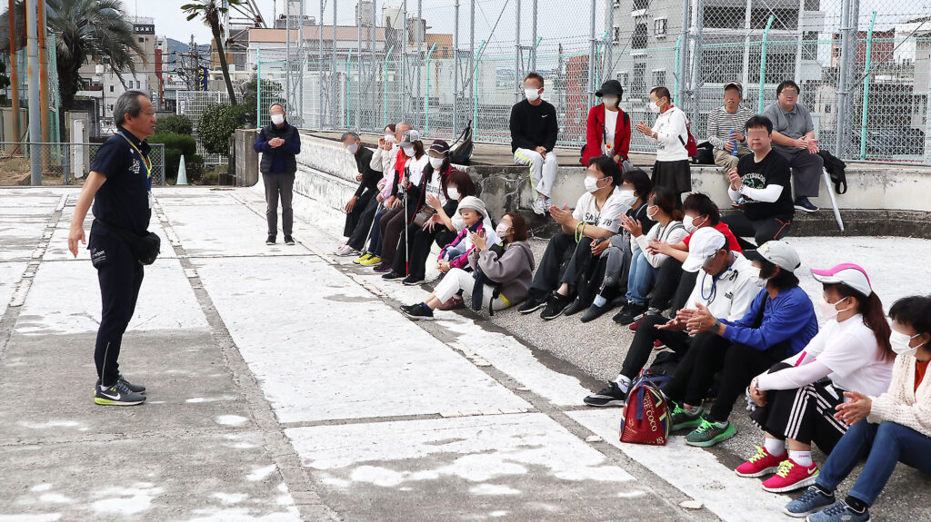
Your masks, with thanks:
M 64 111 L 72 109 L 74 94 L 84 88 L 78 70 L 88 57 L 106 57 L 124 87 L 123 74 L 136 74 L 136 57 L 148 62 L 120 0 L 46 0 L 46 20 L 48 30 L 56 34 Z

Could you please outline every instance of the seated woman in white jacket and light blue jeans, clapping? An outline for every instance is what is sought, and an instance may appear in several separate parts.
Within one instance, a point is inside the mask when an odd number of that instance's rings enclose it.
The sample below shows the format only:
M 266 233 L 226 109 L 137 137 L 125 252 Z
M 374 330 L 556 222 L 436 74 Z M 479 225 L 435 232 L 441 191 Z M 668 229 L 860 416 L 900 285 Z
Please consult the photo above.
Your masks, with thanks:
M 660 254 L 650 247 L 651 241 L 676 244 L 685 239 L 688 232 L 682 227 L 682 211 L 676 209 L 676 193 L 667 187 L 655 187 L 648 198 L 647 216 L 656 224 L 646 233 L 640 222 L 621 215 L 621 228 L 630 232 L 630 271 L 627 273 L 627 305 L 621 314 L 639 318 L 647 308 L 647 296 L 653 290 L 659 266 L 668 255 Z M 633 248 L 636 242 L 638 248 Z

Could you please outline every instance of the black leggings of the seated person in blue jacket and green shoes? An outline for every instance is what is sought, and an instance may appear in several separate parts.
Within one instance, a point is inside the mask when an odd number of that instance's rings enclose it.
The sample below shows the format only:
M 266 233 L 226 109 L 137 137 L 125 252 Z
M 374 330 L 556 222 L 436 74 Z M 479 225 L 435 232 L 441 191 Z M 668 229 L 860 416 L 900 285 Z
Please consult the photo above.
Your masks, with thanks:
M 753 377 L 765 372 L 786 356 L 785 347 L 779 345 L 757 350 L 747 345 L 731 344 L 718 336 L 705 337 L 685 353 L 676 374 L 663 386 L 666 397 L 679 403 L 697 406 L 708 394 L 715 373 L 721 371 L 718 395 L 705 418 L 711 422 L 724 422 L 734 410 L 734 402 L 740 397 Z

